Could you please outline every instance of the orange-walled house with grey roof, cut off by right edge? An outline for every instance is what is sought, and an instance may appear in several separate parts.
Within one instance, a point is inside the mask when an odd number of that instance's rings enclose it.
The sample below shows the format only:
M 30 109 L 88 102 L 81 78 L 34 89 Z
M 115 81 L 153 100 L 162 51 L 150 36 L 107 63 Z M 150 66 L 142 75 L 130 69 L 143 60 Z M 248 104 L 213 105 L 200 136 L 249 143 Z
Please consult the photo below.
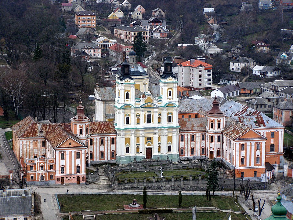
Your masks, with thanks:
M 293 120 L 293 102 L 292 97 L 273 106 L 273 119 L 286 127 L 291 127 Z

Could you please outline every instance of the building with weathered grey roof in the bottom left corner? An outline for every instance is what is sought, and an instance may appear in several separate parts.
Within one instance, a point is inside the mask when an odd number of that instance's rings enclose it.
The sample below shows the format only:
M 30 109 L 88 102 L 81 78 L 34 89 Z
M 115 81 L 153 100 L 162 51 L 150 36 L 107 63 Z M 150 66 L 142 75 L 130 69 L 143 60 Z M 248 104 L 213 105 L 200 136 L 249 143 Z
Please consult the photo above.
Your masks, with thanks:
M 0 190 L 0 219 L 34 219 L 34 193 L 31 189 Z

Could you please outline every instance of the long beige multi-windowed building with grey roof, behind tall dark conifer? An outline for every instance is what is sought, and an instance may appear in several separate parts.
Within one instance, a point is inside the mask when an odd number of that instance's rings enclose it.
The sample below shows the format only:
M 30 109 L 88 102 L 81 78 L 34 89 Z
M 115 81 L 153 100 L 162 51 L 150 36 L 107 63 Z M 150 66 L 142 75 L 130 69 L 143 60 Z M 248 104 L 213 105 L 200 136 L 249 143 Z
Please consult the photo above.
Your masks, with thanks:
M 145 28 L 138 25 L 134 25 L 133 27 L 119 25 L 114 28 L 114 36 L 122 39 L 123 42 L 128 44 L 134 43 L 134 40 L 139 32 L 143 34 L 144 41 L 148 43 L 150 40 L 150 31 Z

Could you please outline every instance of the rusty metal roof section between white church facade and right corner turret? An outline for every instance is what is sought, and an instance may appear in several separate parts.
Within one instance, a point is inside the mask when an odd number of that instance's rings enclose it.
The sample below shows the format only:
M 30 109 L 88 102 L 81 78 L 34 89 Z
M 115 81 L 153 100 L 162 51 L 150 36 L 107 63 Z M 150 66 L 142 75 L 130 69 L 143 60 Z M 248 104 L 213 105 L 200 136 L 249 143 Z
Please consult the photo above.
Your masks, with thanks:
M 179 118 L 179 131 L 205 130 L 207 118 Z

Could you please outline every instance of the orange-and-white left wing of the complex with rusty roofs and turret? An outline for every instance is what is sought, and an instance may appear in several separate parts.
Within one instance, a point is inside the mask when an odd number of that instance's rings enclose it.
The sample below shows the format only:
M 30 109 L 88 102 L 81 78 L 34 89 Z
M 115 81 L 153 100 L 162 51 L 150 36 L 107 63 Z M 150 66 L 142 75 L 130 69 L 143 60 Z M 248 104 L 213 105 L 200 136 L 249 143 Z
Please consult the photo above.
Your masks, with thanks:
M 27 184 L 86 184 L 91 162 L 114 161 L 117 133 L 113 122 L 90 122 L 81 101 L 70 123 L 26 117 L 13 127 L 13 152 L 27 167 Z M 71 160 L 72 159 L 72 160 Z

